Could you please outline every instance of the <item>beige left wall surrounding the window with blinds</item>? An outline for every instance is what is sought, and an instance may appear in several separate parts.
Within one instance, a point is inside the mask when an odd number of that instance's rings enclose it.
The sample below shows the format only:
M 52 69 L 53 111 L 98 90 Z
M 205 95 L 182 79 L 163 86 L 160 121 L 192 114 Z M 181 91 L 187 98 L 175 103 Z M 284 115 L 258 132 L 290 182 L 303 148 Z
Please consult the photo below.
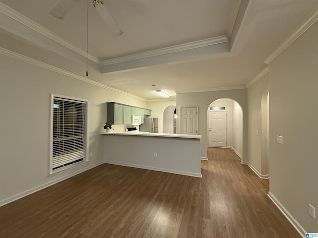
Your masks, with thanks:
M 0 55 L 0 205 L 103 162 L 106 102 L 146 101 Z M 49 175 L 50 94 L 89 100 L 89 162 Z

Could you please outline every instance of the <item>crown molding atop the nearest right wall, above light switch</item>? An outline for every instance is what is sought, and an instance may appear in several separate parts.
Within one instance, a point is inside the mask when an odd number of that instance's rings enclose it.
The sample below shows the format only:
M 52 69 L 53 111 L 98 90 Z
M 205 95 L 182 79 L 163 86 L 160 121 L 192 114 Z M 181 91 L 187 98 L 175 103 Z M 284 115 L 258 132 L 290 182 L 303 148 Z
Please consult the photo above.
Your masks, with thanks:
M 272 52 L 269 57 L 264 60 L 264 63 L 270 64 L 276 59 L 283 51 L 286 50 L 294 41 L 304 34 L 316 21 L 318 20 L 318 7 L 309 14 L 309 16 L 283 41 L 283 43 Z

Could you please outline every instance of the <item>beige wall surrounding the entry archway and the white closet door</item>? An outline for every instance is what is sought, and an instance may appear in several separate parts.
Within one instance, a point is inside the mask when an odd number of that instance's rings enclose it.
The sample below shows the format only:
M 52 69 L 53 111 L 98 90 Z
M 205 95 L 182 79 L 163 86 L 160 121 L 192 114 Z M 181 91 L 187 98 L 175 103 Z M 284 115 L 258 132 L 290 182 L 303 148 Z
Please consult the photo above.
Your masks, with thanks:
M 207 158 L 207 110 L 209 105 L 217 99 L 229 98 L 238 102 L 243 111 L 243 152 L 242 160 L 247 161 L 247 89 L 220 90 L 197 93 L 177 94 L 177 114 L 180 107 L 198 106 L 198 134 L 201 138 L 201 157 Z M 177 120 L 177 133 L 180 132 L 180 117 Z

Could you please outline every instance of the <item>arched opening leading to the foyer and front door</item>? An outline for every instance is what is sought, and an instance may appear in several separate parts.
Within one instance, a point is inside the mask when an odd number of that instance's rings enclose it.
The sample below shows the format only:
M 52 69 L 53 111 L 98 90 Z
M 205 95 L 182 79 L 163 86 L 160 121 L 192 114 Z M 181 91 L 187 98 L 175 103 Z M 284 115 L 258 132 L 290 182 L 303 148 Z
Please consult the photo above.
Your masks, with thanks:
M 207 145 L 233 149 L 243 156 L 243 111 L 238 102 L 221 98 L 207 109 Z

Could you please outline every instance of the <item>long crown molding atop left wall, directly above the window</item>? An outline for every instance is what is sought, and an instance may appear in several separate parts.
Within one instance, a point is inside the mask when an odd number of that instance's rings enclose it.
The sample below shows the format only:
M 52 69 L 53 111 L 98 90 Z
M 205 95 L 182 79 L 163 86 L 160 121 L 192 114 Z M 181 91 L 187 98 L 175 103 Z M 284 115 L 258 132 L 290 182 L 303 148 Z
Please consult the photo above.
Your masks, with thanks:
M 86 83 L 90 83 L 90 84 L 95 85 L 95 86 L 97 86 L 97 87 L 101 87 L 101 88 L 104 88 L 104 89 L 107 89 L 107 90 L 110 90 L 110 91 L 113 91 L 113 92 L 116 92 L 116 93 L 120 93 L 120 94 L 129 96 L 129 97 L 133 97 L 133 98 L 136 98 L 136 99 L 145 101 L 145 102 L 147 101 L 146 99 L 141 98 L 141 97 L 138 97 L 138 96 L 136 96 L 136 95 L 133 95 L 133 94 L 130 94 L 130 93 L 126 93 L 126 92 L 121 91 L 121 90 L 116 89 L 116 88 L 109 87 L 109 86 L 107 86 L 107 85 L 105 85 L 105 84 L 96 82 L 96 81 L 91 80 L 91 79 L 89 79 L 89 78 L 80 76 L 80 75 L 78 75 L 78 74 L 69 72 L 69 71 L 67 71 L 67 70 L 64 70 L 64 69 L 61 69 L 61 68 L 58 68 L 58 67 L 55 67 L 55 66 L 52 66 L 52 65 L 50 65 L 50 64 L 41 62 L 41 61 L 39 61 L 39 60 L 31 59 L 31 58 L 29 58 L 29 57 L 20 55 L 20 54 L 18 54 L 18 53 L 15 53 L 15 52 L 6 50 L 6 49 L 1 48 L 1 47 L 0 47 L 0 54 L 1 54 L 1 55 L 4 55 L 4 56 L 7 56 L 7 57 L 10 57 L 10 58 L 13 58 L 13 59 L 16 59 L 16 60 L 21 60 L 21 61 L 23 61 L 23 62 L 30 63 L 30 64 L 33 64 L 33 65 L 36 65 L 36 66 L 39 66 L 39 67 L 42 67 L 42 68 L 51 70 L 51 71 L 53 71 L 53 72 L 57 72 L 57 73 L 63 74 L 63 75 L 65 75 L 65 76 L 68 76 L 68 77 L 71 77 L 71 78 L 78 79 L 78 80 L 83 81 L 83 82 L 86 82 Z

